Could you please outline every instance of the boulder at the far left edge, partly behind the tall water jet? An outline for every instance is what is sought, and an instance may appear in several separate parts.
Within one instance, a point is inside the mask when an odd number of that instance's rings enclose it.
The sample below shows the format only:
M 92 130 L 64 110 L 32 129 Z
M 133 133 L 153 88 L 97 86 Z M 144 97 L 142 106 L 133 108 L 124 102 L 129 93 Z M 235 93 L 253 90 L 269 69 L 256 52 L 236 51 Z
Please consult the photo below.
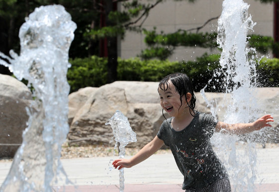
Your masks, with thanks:
M 22 142 L 32 95 L 22 82 L 0 74 L 0 157 L 13 157 Z

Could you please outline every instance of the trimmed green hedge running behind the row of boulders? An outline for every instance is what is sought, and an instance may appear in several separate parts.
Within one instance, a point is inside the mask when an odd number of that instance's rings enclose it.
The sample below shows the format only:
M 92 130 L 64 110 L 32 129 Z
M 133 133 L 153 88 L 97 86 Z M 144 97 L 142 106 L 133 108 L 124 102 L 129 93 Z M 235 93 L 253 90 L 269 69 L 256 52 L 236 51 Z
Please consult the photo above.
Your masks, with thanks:
M 200 91 L 213 77 L 213 72 L 219 65 L 220 55 L 207 55 L 196 61 L 170 62 L 160 60 L 141 61 L 139 58 L 118 59 L 118 80 L 125 81 L 159 81 L 173 72 L 185 72 L 193 81 L 195 91 Z M 93 56 L 91 58 L 76 58 L 69 61 L 72 66 L 67 73 L 71 92 L 82 87 L 100 87 L 106 84 L 107 59 Z M 279 59 L 262 59 L 258 62 L 259 86 L 278 86 Z M 217 89 L 222 77 L 214 79 L 206 91 L 222 92 Z M 215 85 L 215 86 L 214 86 Z

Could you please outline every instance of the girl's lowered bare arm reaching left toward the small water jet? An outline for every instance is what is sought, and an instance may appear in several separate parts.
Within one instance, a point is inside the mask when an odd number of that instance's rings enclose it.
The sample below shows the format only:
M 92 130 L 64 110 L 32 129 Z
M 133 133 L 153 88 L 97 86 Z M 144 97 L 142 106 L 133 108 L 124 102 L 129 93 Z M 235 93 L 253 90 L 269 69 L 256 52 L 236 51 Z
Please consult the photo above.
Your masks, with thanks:
M 133 156 L 131 159 L 117 159 L 114 160 L 113 166 L 114 168 L 122 169 L 124 167 L 130 168 L 134 165 L 137 165 L 141 161 L 144 161 L 148 157 L 150 157 L 152 154 L 154 154 L 157 150 L 159 150 L 164 144 L 164 141 L 159 139 L 157 136 L 147 143 L 140 151 Z

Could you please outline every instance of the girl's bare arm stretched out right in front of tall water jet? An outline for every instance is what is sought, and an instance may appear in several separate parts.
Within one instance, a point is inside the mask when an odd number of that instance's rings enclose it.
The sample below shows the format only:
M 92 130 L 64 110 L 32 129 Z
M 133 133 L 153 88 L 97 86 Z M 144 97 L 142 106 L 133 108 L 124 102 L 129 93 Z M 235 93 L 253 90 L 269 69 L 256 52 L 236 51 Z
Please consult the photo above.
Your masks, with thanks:
M 269 122 L 274 122 L 273 117 L 271 115 L 265 115 L 255 122 L 247 124 L 227 124 L 224 122 L 218 122 L 215 129 L 218 132 L 225 130 L 229 133 L 244 134 L 254 130 L 260 130 L 264 127 L 272 127 L 270 124 L 268 124 Z

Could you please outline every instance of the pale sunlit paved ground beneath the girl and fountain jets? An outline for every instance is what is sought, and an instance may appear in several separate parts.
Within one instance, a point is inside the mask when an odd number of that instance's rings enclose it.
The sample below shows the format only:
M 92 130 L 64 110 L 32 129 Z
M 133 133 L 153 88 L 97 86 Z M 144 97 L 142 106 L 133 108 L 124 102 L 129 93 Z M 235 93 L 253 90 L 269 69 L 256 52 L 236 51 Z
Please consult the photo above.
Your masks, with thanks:
M 119 192 L 119 171 L 112 168 L 116 157 L 62 159 L 68 178 L 56 192 Z M 256 192 L 279 192 L 279 147 L 258 149 Z M 11 163 L 0 162 L 0 185 Z M 183 192 L 183 177 L 171 154 L 153 155 L 133 168 L 125 169 L 125 192 Z M 58 183 L 63 186 L 63 181 Z M 74 187 L 76 186 L 76 187 Z

